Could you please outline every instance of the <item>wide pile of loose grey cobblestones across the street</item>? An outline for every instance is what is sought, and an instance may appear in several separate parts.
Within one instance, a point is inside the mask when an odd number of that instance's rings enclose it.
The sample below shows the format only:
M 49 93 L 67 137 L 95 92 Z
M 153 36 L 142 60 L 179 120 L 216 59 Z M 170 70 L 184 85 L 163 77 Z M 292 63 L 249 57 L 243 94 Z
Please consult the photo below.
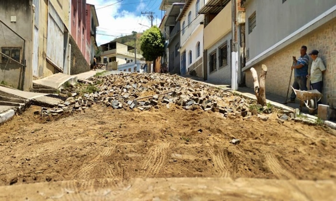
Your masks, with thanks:
M 271 108 L 255 105 L 249 99 L 177 75 L 121 73 L 84 82 L 62 91 L 70 97 L 56 108 L 43 109 L 42 115 L 81 111 L 94 104 L 139 111 L 177 105 L 185 110 L 211 110 L 223 117 L 244 118 L 271 112 Z M 265 116 L 259 118 L 267 120 Z

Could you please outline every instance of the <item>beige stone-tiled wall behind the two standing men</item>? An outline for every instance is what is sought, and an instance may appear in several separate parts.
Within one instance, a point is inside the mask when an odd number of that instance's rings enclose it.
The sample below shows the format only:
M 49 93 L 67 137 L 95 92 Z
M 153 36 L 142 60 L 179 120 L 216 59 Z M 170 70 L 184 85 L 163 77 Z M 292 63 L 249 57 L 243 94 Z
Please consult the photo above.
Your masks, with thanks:
M 323 103 L 336 106 L 336 19 L 312 31 L 303 38 L 297 40 L 276 54 L 268 57 L 259 65 L 254 66 L 258 75 L 261 72 L 261 64 L 267 66 L 266 91 L 277 95 L 286 96 L 290 66 L 293 63 L 292 56 L 300 56 L 302 45 L 307 46 L 307 53 L 317 49 L 327 68 L 324 75 Z M 312 60 L 310 59 L 310 65 Z M 309 65 L 309 68 L 310 68 Z M 292 81 L 294 80 L 294 72 Z M 250 70 L 246 71 L 246 85 L 253 87 L 253 79 Z M 267 98 L 267 97 L 266 97 Z

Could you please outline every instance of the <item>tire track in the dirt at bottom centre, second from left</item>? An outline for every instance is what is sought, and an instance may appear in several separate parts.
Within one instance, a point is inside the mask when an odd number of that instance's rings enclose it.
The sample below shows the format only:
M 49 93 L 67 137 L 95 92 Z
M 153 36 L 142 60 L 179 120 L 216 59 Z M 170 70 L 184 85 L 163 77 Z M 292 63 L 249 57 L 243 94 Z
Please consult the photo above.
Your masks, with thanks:
M 168 159 L 168 147 L 170 143 L 159 143 L 150 148 L 146 153 L 142 170 L 145 170 L 144 177 L 149 174 L 157 175 Z

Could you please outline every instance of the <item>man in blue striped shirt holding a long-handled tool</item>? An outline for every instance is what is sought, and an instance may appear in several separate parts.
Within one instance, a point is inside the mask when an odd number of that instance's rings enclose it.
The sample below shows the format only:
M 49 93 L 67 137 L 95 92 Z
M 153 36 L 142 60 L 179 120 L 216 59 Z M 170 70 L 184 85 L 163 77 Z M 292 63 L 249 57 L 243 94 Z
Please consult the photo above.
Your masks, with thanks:
M 294 69 L 294 89 L 300 89 L 302 91 L 307 91 L 307 75 L 308 75 L 308 65 L 309 65 L 309 56 L 307 55 L 307 46 L 302 46 L 300 49 L 300 57 L 296 59 L 293 56 L 293 62 L 296 65 L 291 66 L 291 69 Z M 295 92 L 292 91 L 290 103 L 295 103 Z

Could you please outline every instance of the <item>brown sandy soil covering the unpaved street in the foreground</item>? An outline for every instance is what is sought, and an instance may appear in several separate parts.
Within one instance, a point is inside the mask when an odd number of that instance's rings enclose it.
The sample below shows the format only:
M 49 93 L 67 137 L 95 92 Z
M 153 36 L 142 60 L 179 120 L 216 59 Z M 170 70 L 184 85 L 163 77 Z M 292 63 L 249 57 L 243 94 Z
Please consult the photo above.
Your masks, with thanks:
M 32 106 L 0 127 L 0 185 L 99 178 L 336 176 L 335 131 L 256 117 L 223 119 L 175 106 L 93 106 L 55 120 Z M 238 138 L 241 143 L 230 144 Z

